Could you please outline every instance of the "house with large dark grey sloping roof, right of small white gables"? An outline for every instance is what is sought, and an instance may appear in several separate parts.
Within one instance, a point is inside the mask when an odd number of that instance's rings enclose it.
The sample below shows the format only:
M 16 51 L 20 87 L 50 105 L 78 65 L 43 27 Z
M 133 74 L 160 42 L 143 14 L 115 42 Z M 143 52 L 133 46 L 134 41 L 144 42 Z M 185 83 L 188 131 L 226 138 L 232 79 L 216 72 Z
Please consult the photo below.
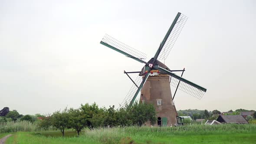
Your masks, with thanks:
M 248 124 L 242 115 L 220 115 L 217 121 L 226 124 Z

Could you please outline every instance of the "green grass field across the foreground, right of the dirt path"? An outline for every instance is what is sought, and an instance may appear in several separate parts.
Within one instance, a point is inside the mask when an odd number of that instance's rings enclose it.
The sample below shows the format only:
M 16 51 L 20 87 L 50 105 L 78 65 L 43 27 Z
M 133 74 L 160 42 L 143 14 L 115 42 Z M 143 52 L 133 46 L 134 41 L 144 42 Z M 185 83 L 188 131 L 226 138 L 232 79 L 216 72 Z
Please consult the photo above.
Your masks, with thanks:
M 75 131 L 17 132 L 6 144 L 256 144 L 256 125 L 194 125 L 173 128 L 105 128 Z

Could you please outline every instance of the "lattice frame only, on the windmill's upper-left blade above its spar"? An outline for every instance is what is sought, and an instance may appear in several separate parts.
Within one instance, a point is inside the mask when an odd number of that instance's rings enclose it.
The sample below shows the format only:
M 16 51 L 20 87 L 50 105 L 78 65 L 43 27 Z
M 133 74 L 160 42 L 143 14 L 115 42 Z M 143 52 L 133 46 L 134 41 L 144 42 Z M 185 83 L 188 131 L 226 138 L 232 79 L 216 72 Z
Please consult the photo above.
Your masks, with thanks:
M 108 34 L 105 34 L 105 36 L 102 39 L 102 42 L 107 43 L 110 46 L 115 47 L 116 49 L 120 49 L 123 52 L 128 53 L 131 56 L 134 56 L 138 59 L 146 59 L 147 55 L 143 52 L 138 51 L 137 49 L 132 48 L 131 46 L 128 46 L 117 39 L 113 38 L 112 36 L 109 36 Z

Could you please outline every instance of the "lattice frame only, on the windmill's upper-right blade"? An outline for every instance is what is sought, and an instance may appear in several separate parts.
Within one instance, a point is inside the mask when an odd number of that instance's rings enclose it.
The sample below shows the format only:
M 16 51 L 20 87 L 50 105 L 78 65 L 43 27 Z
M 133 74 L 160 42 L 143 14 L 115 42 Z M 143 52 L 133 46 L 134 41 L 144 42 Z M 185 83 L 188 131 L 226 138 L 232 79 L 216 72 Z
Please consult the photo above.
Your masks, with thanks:
M 174 43 L 176 42 L 178 36 L 181 33 L 181 30 L 183 29 L 186 21 L 187 16 L 181 14 L 180 17 L 177 20 L 177 23 L 174 25 L 174 28 L 172 29 L 170 35 L 168 36 L 166 42 L 164 43 L 163 49 L 161 50 L 158 60 L 165 60 L 167 56 L 169 55 L 172 47 L 174 46 Z

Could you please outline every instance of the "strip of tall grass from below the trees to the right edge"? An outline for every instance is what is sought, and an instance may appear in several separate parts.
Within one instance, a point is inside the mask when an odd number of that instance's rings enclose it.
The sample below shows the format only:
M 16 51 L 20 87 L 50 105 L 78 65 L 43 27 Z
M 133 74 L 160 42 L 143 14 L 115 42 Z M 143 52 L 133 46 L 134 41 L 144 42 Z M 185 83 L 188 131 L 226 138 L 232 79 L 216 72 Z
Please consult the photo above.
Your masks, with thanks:
M 80 137 L 105 144 L 119 144 L 122 141 L 132 141 L 132 138 L 151 139 L 163 135 L 209 135 L 256 133 L 256 124 L 220 124 L 220 125 L 185 125 L 179 127 L 127 127 L 127 128 L 99 128 L 92 131 L 85 130 Z M 129 142 L 128 142 L 129 143 Z

